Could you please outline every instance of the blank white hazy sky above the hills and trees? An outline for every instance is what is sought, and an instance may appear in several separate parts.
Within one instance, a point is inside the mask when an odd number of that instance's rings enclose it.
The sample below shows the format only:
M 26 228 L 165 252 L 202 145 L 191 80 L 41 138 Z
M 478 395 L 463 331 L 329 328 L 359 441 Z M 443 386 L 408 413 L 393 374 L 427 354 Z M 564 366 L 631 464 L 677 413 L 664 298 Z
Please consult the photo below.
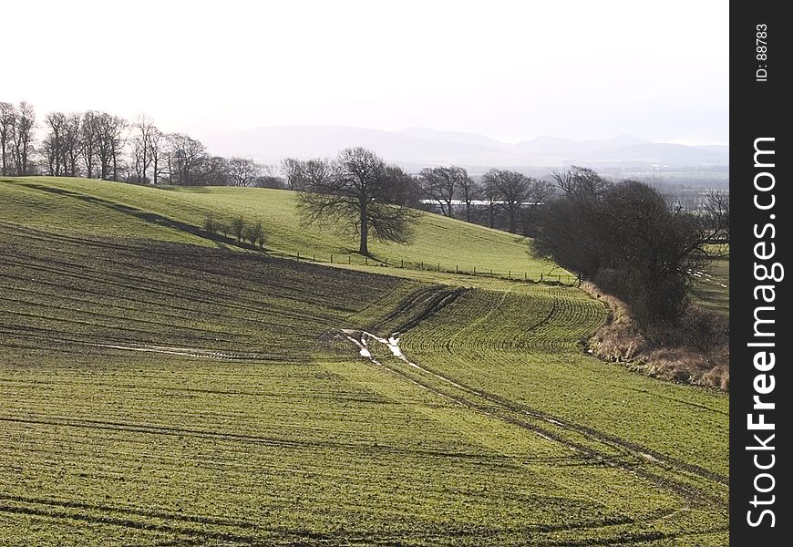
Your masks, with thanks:
M 0 15 L 0 100 L 40 118 L 729 142 L 724 1 L 9 0 Z

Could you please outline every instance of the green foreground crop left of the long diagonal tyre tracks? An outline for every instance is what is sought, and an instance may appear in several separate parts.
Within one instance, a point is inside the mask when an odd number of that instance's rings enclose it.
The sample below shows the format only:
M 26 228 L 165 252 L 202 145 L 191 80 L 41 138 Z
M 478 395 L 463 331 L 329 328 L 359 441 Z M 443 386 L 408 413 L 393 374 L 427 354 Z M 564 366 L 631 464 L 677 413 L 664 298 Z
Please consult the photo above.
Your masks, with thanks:
M 55 358 L 5 363 L 0 515 L 107 522 L 105 534 L 403 544 L 476 544 L 481 534 L 509 544 L 546 536 L 550 523 L 573 534 L 586 522 L 624 524 L 551 480 L 573 455 L 499 454 L 408 411 L 453 404 L 406 407 L 319 365 L 218 371 L 152 356 L 86 377 Z

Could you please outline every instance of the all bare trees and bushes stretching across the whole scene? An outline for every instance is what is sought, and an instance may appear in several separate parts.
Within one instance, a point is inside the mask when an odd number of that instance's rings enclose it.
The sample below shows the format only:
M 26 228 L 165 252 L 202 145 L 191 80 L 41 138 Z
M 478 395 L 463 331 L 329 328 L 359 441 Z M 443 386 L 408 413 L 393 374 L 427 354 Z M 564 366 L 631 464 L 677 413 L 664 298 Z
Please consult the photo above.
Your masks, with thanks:
M 705 270 L 715 245 L 729 243 L 722 192 L 684 208 L 646 183 L 612 182 L 581 167 L 554 171 L 550 180 L 497 169 L 475 180 L 455 165 L 409 174 L 364 148 L 335 159 L 287 158 L 281 179 L 250 159 L 211 156 L 199 140 L 163 133 L 145 116 L 129 123 L 105 112 L 52 112 L 44 121 L 46 135 L 36 143 L 34 109 L 0 103 L 4 175 L 39 169 L 151 184 L 285 187 L 298 191 L 304 222 L 353 234 L 366 256 L 370 239 L 406 243 L 423 201 L 448 217 L 461 207 L 468 222 L 531 236 L 535 250 L 623 297 L 644 325 L 675 323 L 692 275 Z M 204 228 L 263 246 L 261 223 L 208 218 Z

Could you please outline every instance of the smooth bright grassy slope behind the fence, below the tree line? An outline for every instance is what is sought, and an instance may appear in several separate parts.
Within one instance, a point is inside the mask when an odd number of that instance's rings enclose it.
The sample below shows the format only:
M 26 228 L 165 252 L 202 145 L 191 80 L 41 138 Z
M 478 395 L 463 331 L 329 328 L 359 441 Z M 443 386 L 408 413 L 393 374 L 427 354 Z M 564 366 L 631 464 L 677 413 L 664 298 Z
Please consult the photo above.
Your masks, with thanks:
M 232 240 L 211 239 L 201 227 L 212 213 L 228 222 L 238 215 L 250 222 L 262 221 L 267 247 L 272 253 L 301 253 L 327 262 L 351 260 L 355 237 L 332 228 L 304 226 L 295 210 L 295 193 L 260 188 L 148 187 L 118 182 L 27 177 L 0 179 L 0 219 L 47 231 L 95 234 L 112 237 L 157 239 L 205 246 L 229 246 Z M 225 243 L 223 243 L 225 241 Z M 548 274 L 553 264 L 528 253 L 528 243 L 509 233 L 467 222 L 425 214 L 417 222 L 415 237 L 407 245 L 370 244 L 380 261 L 466 272 L 511 274 L 532 279 Z M 464 252 L 463 252 L 464 251 Z M 553 274 L 567 275 L 560 268 Z

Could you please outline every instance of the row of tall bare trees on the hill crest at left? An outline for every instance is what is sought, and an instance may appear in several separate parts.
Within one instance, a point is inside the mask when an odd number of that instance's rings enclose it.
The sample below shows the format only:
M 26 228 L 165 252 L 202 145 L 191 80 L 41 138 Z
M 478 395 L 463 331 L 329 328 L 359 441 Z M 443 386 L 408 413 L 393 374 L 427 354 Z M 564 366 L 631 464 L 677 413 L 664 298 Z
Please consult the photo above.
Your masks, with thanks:
M 133 122 L 107 112 L 50 112 L 36 141 L 32 105 L 0 102 L 2 175 L 46 174 L 139 184 L 279 186 L 249 158 L 212 156 L 198 139 L 165 133 L 152 119 Z

